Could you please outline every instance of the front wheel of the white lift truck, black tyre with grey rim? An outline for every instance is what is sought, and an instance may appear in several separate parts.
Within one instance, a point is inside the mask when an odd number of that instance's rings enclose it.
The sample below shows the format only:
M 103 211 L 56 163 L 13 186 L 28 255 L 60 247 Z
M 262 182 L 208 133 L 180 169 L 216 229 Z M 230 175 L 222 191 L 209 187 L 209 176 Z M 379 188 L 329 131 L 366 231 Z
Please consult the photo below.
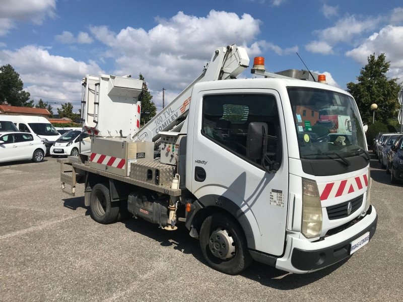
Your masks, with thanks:
M 235 275 L 252 262 L 239 223 L 225 212 L 216 212 L 201 224 L 200 247 L 214 269 Z

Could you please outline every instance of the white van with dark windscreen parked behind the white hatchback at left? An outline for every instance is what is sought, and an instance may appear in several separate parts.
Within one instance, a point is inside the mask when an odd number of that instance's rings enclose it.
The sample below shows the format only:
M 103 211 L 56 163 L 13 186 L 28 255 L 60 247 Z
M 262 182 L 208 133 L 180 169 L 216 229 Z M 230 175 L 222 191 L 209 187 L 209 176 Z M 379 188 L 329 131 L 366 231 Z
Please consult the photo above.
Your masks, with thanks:
M 9 115 L 8 118 L 21 132 L 39 136 L 45 142 L 46 153 L 49 153 L 50 146 L 60 137 L 60 133 L 43 116 Z

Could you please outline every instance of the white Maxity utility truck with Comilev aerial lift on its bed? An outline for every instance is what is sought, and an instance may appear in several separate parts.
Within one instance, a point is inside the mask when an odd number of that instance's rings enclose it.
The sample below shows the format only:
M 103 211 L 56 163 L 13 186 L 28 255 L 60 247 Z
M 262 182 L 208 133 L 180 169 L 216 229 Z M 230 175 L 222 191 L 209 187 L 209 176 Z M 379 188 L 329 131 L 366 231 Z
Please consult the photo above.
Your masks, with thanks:
M 254 259 L 294 273 L 336 263 L 376 230 L 370 158 L 353 97 L 307 71 L 267 72 L 244 48 L 209 64 L 140 128 L 143 81 L 87 75 L 82 119 L 91 152 L 59 160 L 61 186 L 85 185 L 93 219 L 142 217 L 187 228 L 207 262 L 228 274 Z M 297 70 L 298 71 L 298 70 Z M 298 79 L 284 74 L 296 74 Z M 322 82 L 322 77 L 320 77 Z M 315 125 L 337 106 L 349 141 Z

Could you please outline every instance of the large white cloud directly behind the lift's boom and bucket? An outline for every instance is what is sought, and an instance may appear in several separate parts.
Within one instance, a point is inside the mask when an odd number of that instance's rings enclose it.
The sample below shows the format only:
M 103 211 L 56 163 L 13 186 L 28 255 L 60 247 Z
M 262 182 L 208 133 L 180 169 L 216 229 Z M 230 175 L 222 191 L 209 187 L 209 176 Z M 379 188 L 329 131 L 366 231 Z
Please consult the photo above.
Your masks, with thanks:
M 238 16 L 214 10 L 206 17 L 179 12 L 170 19 L 156 21 L 159 24 L 149 31 L 127 27 L 115 33 L 106 26 L 97 26 L 90 32 L 109 46 L 104 57 L 115 58 L 115 74 L 131 73 L 137 77 L 141 72 L 150 89 L 165 87 L 168 91 L 180 91 L 192 82 L 216 47 L 225 47 L 228 41 L 239 46 L 254 41 L 260 25 L 248 14 Z M 160 105 L 157 98 L 154 100 Z

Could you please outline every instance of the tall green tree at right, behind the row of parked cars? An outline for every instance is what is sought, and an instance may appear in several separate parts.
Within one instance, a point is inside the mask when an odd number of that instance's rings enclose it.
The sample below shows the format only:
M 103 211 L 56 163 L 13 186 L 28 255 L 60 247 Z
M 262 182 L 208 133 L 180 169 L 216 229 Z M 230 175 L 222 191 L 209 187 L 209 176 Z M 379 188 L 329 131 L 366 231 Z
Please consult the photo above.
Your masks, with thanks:
M 390 62 L 386 62 L 384 53 L 375 58 L 375 53 L 368 57 L 368 64 L 361 68 L 357 77 L 358 84 L 350 82 L 347 84 L 347 91 L 356 99 L 358 109 L 364 124 L 371 124 L 373 111 L 371 104 L 377 104 L 375 119 L 386 124 L 387 119 L 396 118 L 399 103 L 397 94 L 401 89 L 396 79 L 388 79 L 386 72 L 389 70 Z

